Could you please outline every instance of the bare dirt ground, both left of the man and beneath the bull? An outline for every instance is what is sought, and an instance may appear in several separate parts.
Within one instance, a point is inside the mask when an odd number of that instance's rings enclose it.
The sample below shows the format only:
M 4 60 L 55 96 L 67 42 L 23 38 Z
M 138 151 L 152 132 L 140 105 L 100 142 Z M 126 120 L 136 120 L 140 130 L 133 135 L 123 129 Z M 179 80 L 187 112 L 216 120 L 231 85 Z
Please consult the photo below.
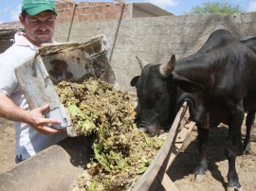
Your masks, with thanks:
M 180 191 L 218 191 L 225 190 L 227 183 L 228 161 L 224 146 L 228 129 L 220 126 L 210 130 L 209 140 L 209 170 L 205 182 L 191 182 L 192 172 L 197 163 L 196 129 L 192 130 L 184 152 L 181 152 L 168 171 L 170 178 Z M 251 133 L 251 148 L 256 152 L 256 128 Z M 14 162 L 14 128 L 12 123 L 0 118 L 0 174 L 15 166 Z M 256 190 L 256 156 L 238 156 L 236 169 L 245 191 Z

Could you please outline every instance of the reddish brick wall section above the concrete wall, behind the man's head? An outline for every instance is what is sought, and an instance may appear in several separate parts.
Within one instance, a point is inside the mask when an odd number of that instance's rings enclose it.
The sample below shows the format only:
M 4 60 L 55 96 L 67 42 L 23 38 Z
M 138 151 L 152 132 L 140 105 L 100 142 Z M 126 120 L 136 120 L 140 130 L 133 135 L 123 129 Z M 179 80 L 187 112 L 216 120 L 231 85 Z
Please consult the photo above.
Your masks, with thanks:
M 55 3 L 58 12 L 57 23 L 70 23 L 75 9 L 74 23 L 81 22 L 99 22 L 104 20 L 119 19 L 122 13 L 122 19 L 131 18 L 131 4 L 125 6 L 112 2 L 81 2 L 78 6 L 70 3 Z

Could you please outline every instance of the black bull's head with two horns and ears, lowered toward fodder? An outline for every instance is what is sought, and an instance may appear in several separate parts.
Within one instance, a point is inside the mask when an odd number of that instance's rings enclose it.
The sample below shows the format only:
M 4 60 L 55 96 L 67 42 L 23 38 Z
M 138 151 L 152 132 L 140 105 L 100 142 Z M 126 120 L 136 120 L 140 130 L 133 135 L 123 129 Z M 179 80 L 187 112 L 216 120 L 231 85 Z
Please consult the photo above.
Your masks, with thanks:
M 137 60 L 141 75 L 131 80 L 131 85 L 137 88 L 137 125 L 150 135 L 158 135 L 174 121 L 178 90 L 194 93 L 202 90 L 202 86 L 174 73 L 174 55 L 165 64 Z

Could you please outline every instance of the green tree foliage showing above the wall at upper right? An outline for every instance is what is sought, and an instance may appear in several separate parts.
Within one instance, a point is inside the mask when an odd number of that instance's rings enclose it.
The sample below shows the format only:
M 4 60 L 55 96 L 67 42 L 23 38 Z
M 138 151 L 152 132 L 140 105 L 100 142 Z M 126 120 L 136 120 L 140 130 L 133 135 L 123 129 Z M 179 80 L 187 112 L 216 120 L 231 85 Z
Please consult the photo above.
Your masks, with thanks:
M 232 6 L 229 3 L 206 2 L 202 7 L 193 7 L 187 14 L 234 14 L 241 11 L 239 6 Z

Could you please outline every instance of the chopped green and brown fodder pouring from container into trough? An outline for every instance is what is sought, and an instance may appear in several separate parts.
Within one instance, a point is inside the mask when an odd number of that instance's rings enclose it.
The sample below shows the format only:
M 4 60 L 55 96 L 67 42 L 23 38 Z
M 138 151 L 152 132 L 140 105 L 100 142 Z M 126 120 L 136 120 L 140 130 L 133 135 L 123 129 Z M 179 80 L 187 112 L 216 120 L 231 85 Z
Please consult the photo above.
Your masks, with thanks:
M 92 135 L 94 157 L 69 190 L 128 190 L 146 171 L 164 140 L 134 123 L 134 98 L 100 78 L 55 85 L 80 136 Z

